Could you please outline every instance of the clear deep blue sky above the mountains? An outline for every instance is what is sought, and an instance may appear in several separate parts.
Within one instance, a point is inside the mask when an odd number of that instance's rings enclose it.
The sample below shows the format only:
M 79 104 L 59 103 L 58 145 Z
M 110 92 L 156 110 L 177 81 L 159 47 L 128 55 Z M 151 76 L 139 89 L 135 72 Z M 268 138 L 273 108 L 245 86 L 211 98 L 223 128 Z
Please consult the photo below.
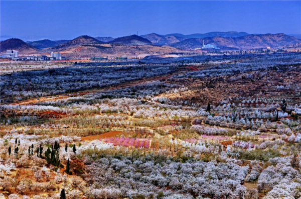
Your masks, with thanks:
M 1 37 L 72 39 L 156 32 L 301 34 L 301 1 L 5 1 Z

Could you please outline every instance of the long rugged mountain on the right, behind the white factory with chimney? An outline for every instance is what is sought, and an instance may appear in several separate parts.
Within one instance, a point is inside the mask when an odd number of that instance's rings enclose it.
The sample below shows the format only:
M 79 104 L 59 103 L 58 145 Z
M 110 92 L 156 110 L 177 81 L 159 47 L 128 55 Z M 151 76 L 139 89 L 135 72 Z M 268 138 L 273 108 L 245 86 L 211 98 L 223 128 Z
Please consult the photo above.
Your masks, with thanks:
M 202 47 L 204 44 L 215 44 L 219 47 L 235 47 L 240 49 L 250 49 L 250 48 L 261 48 L 261 47 L 276 47 L 280 45 L 287 45 L 300 42 L 293 36 L 288 36 L 283 33 L 278 34 L 249 34 L 246 36 L 239 37 L 205 37 L 205 38 L 188 38 L 186 40 L 173 43 L 170 46 L 184 48 L 184 49 L 194 49 L 197 47 Z

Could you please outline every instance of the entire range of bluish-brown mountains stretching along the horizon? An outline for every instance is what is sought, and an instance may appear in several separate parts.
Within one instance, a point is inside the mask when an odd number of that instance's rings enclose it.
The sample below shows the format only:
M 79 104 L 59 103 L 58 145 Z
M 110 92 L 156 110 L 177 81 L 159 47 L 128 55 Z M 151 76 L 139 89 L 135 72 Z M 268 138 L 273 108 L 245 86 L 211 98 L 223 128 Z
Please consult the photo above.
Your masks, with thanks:
M 246 35 L 243 35 L 246 34 Z M 207 36 L 204 35 L 215 35 Z M 232 35 L 225 37 L 227 35 Z M 243 36 L 239 36 L 243 35 Z M 193 37 L 192 37 L 193 36 Z M 198 37 L 198 38 L 196 38 Z M 32 42 L 24 42 L 18 38 L 11 38 L 5 41 L 1 41 L 1 52 L 5 52 L 8 49 L 19 50 L 20 54 L 39 54 L 51 51 L 62 51 L 64 53 L 72 53 L 75 55 L 97 55 L 102 52 L 112 52 L 114 50 L 122 50 L 125 52 L 133 53 L 161 53 L 166 51 L 165 48 L 154 48 L 150 46 L 164 46 L 169 45 L 167 51 L 178 51 L 178 49 L 192 50 L 198 47 L 202 47 L 203 41 L 205 44 L 215 44 L 221 48 L 233 48 L 233 49 L 250 49 L 250 48 L 262 48 L 262 47 L 277 47 L 281 45 L 289 45 L 301 42 L 300 39 L 293 36 L 289 36 L 283 33 L 278 34 L 248 34 L 246 32 L 208 32 L 205 34 L 168 34 L 160 35 L 157 33 L 150 33 L 145 35 L 130 35 L 118 38 L 112 37 L 91 37 L 88 35 L 82 35 L 72 40 L 58 40 L 52 41 L 49 39 L 43 39 Z M 147 45 L 145 48 L 140 47 Z M 125 46 L 131 46 L 130 48 Z M 132 50 L 132 47 L 140 50 Z M 139 46 L 139 47 L 138 47 Z M 110 48 L 110 49 L 108 49 Z M 154 49 L 153 49 L 154 48 Z M 178 48 L 176 50 L 176 48 Z M 91 50 L 91 53 L 89 52 Z M 92 53 L 93 52 L 93 53 Z

